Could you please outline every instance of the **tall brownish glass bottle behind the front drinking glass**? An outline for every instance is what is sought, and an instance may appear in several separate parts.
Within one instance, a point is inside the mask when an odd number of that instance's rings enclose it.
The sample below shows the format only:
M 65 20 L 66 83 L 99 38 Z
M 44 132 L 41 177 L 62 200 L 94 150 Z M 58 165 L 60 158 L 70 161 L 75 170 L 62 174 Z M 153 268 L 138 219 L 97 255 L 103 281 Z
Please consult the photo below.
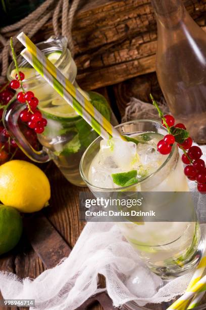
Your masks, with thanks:
M 158 25 L 156 71 L 171 113 L 206 142 L 206 33 L 181 0 L 151 0 Z

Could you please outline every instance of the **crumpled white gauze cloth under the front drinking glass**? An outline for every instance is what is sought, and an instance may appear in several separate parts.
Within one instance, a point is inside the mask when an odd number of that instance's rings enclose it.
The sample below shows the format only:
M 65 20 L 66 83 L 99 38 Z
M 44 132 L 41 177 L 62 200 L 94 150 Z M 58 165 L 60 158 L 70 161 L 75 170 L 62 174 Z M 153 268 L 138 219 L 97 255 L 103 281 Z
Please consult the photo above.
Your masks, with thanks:
M 202 158 L 206 160 L 206 146 L 201 148 Z M 206 207 L 206 195 L 196 191 L 194 182 L 189 185 L 201 214 Z M 200 216 L 200 220 L 205 222 L 206 219 Z M 201 224 L 201 230 L 204 238 L 206 224 Z M 2 272 L 0 289 L 5 299 L 35 299 L 35 309 L 73 310 L 90 296 L 105 290 L 98 288 L 98 274 L 105 276 L 114 306 L 131 300 L 143 306 L 169 301 L 183 294 L 193 272 L 174 280 L 162 280 L 139 259 L 116 223 L 90 222 L 70 256 L 61 264 L 34 280 L 21 280 L 14 274 Z

